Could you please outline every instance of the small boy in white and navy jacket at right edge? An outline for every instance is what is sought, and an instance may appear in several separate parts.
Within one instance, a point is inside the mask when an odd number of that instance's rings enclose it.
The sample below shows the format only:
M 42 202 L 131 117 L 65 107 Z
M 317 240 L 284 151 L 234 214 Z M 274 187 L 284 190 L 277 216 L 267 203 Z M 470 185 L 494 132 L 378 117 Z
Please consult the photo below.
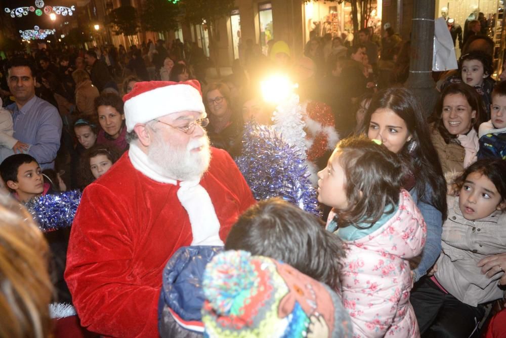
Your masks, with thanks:
M 506 82 L 499 82 L 492 91 L 490 120 L 480 124 L 478 159 L 506 159 Z

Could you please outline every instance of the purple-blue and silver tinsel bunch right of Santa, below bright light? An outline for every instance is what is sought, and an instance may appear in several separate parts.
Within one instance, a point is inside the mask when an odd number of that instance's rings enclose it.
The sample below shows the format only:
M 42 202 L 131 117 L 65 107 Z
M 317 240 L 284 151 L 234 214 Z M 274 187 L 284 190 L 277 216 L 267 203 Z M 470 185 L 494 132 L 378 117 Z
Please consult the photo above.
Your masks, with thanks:
M 235 161 L 255 199 L 279 196 L 321 217 L 304 156 L 269 127 L 246 124 L 242 154 Z

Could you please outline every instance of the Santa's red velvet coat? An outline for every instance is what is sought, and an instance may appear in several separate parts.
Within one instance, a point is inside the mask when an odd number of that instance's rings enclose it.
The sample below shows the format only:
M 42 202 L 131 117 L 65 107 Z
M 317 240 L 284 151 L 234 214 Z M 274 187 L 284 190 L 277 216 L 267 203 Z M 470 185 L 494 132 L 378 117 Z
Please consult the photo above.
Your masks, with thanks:
M 232 158 L 212 149 L 204 187 L 225 241 L 238 216 L 255 200 Z M 151 180 L 125 153 L 88 186 L 77 209 L 65 280 L 81 324 L 105 336 L 158 337 L 162 270 L 192 242 L 179 186 Z

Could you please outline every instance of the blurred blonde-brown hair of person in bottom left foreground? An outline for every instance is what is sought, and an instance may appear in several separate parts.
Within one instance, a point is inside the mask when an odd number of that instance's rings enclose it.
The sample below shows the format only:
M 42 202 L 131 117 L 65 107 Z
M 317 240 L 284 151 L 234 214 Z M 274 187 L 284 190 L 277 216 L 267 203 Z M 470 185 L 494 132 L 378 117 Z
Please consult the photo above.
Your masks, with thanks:
M 28 211 L 0 194 L 0 336 L 49 335 L 49 247 Z

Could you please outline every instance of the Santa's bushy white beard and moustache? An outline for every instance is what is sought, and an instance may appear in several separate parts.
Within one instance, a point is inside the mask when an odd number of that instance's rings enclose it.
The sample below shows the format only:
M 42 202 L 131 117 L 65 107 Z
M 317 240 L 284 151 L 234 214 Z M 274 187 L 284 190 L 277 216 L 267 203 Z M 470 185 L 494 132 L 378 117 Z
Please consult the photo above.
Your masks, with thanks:
M 206 135 L 191 140 L 186 148 L 174 147 L 156 133 L 154 135 L 153 143 L 148 148 L 148 160 L 158 166 L 160 174 L 178 181 L 188 181 L 200 179 L 207 171 L 211 151 Z M 200 151 L 191 151 L 199 147 L 202 147 Z

